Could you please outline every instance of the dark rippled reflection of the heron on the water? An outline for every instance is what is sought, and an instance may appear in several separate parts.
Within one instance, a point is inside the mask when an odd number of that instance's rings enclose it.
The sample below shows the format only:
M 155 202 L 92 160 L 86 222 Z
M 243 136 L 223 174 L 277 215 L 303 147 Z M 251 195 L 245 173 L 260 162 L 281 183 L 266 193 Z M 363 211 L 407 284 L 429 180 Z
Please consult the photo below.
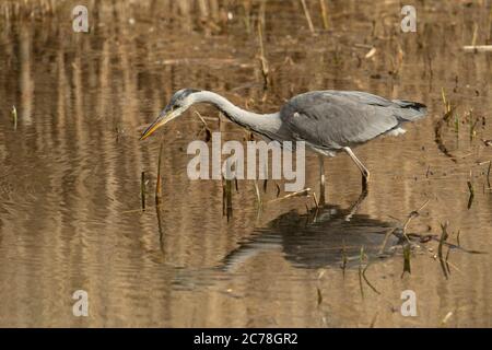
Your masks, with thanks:
M 279 249 L 294 267 L 308 269 L 341 266 L 344 259 L 348 266 L 359 265 L 361 247 L 370 259 L 390 255 L 401 238 L 397 232 L 385 238 L 397 224 L 356 213 L 365 195 L 348 209 L 325 205 L 306 213 L 293 210 L 278 217 L 239 242 L 220 268 L 233 271 L 263 252 Z

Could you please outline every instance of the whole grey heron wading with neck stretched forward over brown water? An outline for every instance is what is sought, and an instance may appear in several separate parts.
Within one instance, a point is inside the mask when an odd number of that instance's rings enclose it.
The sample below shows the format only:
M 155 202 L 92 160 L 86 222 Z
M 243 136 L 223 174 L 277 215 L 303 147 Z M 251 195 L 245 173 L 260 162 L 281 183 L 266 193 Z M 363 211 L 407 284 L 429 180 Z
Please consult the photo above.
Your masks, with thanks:
M 257 114 L 245 110 L 227 98 L 204 90 L 183 89 L 176 92 L 159 117 L 147 128 L 141 140 L 180 116 L 191 105 L 207 103 L 219 108 L 233 122 L 260 135 L 267 140 L 304 141 L 319 153 L 320 202 L 325 202 L 324 155 L 335 156 L 343 151 L 362 174 L 363 190 L 367 189 L 370 172 L 355 156 L 353 147 L 383 135 L 405 132 L 403 124 L 423 118 L 425 105 L 387 100 L 359 91 L 312 91 L 292 97 L 280 112 Z

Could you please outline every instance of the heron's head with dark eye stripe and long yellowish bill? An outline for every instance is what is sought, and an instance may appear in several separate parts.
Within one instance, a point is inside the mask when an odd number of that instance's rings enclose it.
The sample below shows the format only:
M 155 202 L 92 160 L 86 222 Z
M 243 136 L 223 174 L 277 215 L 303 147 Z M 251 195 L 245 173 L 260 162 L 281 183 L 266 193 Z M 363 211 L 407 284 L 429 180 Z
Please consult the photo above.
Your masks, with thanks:
M 179 117 L 186 109 L 188 109 L 194 104 L 192 94 L 200 92 L 196 89 L 183 89 L 177 91 L 173 97 L 171 97 L 167 106 L 159 114 L 157 119 L 150 125 L 149 128 L 143 131 L 140 140 L 144 140 L 154 133 L 155 130 L 163 127 L 171 120 Z

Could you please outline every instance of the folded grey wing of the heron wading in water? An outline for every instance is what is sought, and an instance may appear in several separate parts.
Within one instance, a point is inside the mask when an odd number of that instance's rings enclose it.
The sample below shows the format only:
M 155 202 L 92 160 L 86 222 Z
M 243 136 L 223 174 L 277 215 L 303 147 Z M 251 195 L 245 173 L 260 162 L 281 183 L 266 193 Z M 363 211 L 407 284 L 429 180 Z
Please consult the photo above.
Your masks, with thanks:
M 400 109 L 412 108 L 362 92 L 317 91 L 289 101 L 281 118 L 295 139 L 339 150 L 388 132 L 415 114 Z

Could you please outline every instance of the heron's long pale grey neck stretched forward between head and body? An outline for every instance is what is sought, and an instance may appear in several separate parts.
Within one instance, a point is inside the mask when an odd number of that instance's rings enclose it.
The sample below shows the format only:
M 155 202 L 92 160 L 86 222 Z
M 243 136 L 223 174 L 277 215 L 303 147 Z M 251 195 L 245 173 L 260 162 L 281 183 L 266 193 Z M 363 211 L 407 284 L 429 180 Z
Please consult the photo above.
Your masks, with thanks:
M 232 104 L 227 98 L 210 91 L 194 94 L 195 103 L 209 103 L 219 108 L 232 121 L 262 135 L 277 135 L 281 127 L 280 114 L 257 114 Z

